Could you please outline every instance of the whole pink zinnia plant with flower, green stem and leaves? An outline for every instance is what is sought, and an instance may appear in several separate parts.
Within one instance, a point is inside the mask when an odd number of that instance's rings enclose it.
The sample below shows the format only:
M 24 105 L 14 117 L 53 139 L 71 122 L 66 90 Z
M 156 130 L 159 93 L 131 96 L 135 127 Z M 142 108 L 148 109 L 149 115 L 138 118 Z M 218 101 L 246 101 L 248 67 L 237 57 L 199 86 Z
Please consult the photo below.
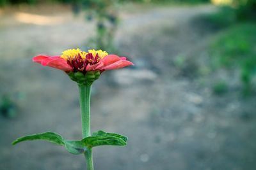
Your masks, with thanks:
M 109 55 L 102 50 L 88 50 L 88 52 L 83 52 L 79 48 L 66 50 L 60 56 L 38 55 L 33 58 L 33 62 L 65 71 L 71 80 L 77 82 L 80 96 L 83 139 L 80 141 L 70 141 L 63 139 L 60 134 L 44 132 L 18 138 L 13 141 L 13 145 L 21 141 L 41 139 L 65 146 L 70 153 L 84 154 L 88 170 L 93 170 L 93 147 L 101 145 L 126 145 L 127 138 L 120 134 L 97 131 L 91 135 L 90 92 L 93 81 L 97 80 L 102 72 L 131 66 L 133 65 L 132 62 L 126 60 L 126 57 L 118 57 L 118 55 L 113 54 Z

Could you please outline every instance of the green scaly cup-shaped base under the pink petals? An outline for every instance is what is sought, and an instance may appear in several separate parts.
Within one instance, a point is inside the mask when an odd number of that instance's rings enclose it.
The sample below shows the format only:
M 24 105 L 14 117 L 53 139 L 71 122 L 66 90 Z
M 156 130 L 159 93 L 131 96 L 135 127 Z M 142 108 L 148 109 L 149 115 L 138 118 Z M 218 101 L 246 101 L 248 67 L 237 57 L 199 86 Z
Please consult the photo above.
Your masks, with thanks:
M 76 81 L 79 85 L 92 85 L 93 81 L 97 80 L 100 76 L 100 71 L 82 72 L 68 72 L 71 80 Z

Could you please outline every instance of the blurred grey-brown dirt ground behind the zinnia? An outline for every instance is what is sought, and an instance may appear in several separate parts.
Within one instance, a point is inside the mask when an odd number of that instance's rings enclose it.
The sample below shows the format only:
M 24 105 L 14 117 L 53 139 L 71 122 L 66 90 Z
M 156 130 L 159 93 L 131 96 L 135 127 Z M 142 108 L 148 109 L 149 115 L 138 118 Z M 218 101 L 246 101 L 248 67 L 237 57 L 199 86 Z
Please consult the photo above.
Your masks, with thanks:
M 93 23 L 74 17 L 68 7 L 52 8 L 0 11 L 0 92 L 16 96 L 18 110 L 15 118 L 0 118 L 1 170 L 85 169 L 82 155 L 51 143 L 11 145 L 22 135 L 45 131 L 81 139 L 76 83 L 31 58 L 82 46 Z M 241 96 L 236 73 L 198 73 L 219 31 L 196 18 L 215 10 L 205 5 L 122 10 L 116 46 L 135 66 L 95 81 L 92 131 L 118 132 L 129 141 L 127 147 L 95 148 L 95 169 L 256 168 L 255 96 Z M 230 89 L 216 96 L 212 84 L 223 76 Z

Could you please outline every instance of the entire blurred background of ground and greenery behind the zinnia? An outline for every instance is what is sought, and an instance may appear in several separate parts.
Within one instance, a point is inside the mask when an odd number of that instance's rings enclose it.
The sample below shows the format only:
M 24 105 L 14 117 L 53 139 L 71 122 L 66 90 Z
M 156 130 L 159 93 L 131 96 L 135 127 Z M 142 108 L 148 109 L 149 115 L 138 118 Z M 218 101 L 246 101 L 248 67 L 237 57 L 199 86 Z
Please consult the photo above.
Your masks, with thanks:
M 0 0 L 0 169 L 86 169 L 45 141 L 81 139 L 77 85 L 31 61 L 102 48 L 135 66 L 93 84 L 92 131 L 128 136 L 93 149 L 95 169 L 256 169 L 255 0 Z

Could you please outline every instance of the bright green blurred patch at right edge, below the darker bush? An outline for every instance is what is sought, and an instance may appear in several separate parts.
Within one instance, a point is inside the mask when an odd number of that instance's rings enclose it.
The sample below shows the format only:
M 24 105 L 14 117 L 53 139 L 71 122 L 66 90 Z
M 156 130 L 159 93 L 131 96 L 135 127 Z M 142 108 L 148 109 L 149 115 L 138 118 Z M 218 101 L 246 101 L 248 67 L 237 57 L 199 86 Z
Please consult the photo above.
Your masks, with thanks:
M 244 94 L 252 90 L 252 78 L 256 73 L 256 23 L 233 25 L 213 41 L 211 58 L 214 66 L 239 67 Z

